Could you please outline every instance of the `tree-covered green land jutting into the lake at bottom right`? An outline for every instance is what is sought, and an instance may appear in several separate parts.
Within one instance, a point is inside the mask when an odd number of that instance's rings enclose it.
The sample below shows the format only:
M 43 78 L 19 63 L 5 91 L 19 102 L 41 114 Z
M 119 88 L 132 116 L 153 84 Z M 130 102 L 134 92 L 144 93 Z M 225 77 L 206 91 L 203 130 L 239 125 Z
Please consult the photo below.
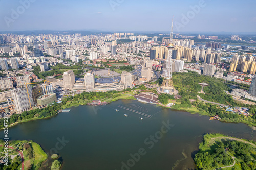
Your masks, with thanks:
M 198 169 L 256 169 L 256 142 L 206 134 L 194 158 Z

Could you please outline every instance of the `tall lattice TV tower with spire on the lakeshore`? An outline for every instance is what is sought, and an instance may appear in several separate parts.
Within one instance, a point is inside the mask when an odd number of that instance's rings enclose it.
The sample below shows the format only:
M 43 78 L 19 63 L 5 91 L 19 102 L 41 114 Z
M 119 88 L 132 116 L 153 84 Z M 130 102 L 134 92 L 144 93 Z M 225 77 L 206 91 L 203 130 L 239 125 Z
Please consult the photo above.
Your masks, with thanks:
M 178 91 L 174 88 L 173 76 L 172 76 L 172 58 L 173 50 L 175 46 L 173 45 L 173 27 L 174 27 L 174 17 L 172 22 L 172 31 L 170 32 L 170 43 L 166 46 L 168 48 L 168 57 L 166 61 L 166 68 L 164 72 L 163 83 L 159 88 L 159 92 L 168 94 L 178 94 Z

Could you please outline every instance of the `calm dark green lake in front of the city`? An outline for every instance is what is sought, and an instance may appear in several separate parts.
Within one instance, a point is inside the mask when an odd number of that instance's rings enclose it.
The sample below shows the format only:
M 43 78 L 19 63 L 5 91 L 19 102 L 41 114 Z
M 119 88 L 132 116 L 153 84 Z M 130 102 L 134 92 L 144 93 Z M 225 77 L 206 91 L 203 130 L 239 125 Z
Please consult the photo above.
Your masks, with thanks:
M 119 105 L 156 114 L 141 120 L 141 115 Z M 198 114 L 119 100 L 103 107 L 72 107 L 70 112 L 49 119 L 22 123 L 9 128 L 9 136 L 12 140 L 33 140 L 48 153 L 57 151 L 64 162 L 63 170 L 191 169 L 194 168 L 193 153 L 205 133 L 223 133 L 256 141 L 255 131 L 245 124 L 208 119 Z M 161 136 L 163 121 L 174 126 Z M 166 128 L 163 130 L 166 132 Z M 151 135 L 159 140 L 150 139 Z M 62 138 L 66 142 L 58 142 Z M 136 153 L 140 148 L 143 149 L 138 160 Z M 137 161 L 133 161 L 130 154 L 135 154 Z M 174 167 L 175 164 L 178 167 Z

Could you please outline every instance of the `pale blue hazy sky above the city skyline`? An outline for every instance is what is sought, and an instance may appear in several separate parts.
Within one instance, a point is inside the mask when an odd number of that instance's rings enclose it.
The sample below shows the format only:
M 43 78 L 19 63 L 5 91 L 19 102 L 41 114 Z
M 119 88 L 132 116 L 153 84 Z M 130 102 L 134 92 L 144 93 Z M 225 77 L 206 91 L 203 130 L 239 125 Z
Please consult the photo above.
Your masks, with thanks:
M 169 31 L 174 15 L 174 32 L 256 32 L 255 7 L 254 0 L 0 0 L 0 30 Z

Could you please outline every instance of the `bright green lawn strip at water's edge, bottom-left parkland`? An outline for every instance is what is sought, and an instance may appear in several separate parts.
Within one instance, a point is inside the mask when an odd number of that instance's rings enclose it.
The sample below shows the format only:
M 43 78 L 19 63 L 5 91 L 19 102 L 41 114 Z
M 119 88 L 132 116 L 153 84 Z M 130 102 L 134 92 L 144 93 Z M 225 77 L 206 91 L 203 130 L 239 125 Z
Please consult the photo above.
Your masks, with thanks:
M 44 162 L 47 159 L 47 154 L 44 150 L 40 147 L 39 144 L 35 142 L 31 142 L 33 152 L 34 152 L 34 169 L 39 169 L 42 162 Z

